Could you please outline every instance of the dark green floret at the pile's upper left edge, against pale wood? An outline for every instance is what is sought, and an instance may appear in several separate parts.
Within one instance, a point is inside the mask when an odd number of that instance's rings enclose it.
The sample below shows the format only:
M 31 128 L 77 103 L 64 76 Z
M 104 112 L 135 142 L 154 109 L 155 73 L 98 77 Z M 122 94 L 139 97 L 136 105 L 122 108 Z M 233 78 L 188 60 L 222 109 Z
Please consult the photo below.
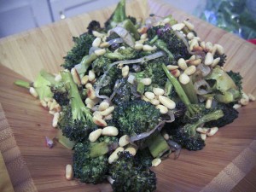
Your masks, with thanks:
M 72 69 L 75 65 L 79 64 L 85 55 L 89 54 L 89 49 L 95 37 L 88 32 L 78 37 L 73 37 L 74 46 L 67 52 L 64 57 L 65 62 L 61 65 L 66 69 Z

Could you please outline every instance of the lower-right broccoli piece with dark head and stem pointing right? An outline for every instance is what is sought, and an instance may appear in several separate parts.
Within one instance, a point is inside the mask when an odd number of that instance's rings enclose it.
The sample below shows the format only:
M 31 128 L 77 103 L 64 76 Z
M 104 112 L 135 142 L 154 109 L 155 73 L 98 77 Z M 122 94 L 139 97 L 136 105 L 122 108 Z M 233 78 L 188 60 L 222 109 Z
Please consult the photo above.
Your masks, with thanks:
M 198 119 L 195 123 L 185 124 L 180 127 L 168 127 L 166 131 L 171 135 L 174 142 L 180 144 L 183 148 L 189 150 L 201 150 L 205 143 L 201 136 L 196 132 L 196 128 L 204 123 L 212 120 L 220 119 L 224 116 L 222 110 L 215 110 L 212 113 L 207 113 Z

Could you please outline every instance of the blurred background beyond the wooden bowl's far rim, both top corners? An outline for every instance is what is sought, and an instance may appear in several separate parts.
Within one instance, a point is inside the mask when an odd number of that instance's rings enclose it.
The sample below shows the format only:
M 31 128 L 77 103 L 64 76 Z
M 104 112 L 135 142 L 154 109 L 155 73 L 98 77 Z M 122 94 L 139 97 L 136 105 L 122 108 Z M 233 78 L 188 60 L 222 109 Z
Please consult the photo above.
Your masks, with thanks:
M 241 38 L 256 38 L 256 0 L 162 0 Z M 0 0 L 0 38 L 119 0 Z

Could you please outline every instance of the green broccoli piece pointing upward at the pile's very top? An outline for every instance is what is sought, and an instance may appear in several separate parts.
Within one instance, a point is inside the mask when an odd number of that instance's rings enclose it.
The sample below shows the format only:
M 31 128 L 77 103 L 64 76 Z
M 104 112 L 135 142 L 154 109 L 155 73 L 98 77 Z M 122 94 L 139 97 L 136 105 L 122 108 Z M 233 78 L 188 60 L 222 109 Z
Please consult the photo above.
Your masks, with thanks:
M 120 22 L 126 19 L 125 13 L 125 0 L 120 0 L 116 9 L 114 9 L 113 14 L 110 18 L 105 22 L 105 28 L 107 30 L 112 29 L 117 26 Z

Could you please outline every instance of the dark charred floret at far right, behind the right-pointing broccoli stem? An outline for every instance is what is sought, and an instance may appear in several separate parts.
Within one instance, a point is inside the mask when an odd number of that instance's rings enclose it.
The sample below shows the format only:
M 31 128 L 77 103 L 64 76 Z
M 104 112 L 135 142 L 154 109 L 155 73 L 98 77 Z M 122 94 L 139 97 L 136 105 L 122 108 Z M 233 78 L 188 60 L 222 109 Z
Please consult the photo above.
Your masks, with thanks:
M 218 120 L 212 120 L 210 122 L 207 122 L 204 125 L 205 127 L 223 127 L 224 125 L 232 123 L 238 117 L 238 111 L 236 111 L 236 109 L 233 108 L 232 105 L 218 103 L 216 108 L 221 109 L 224 113 L 224 116 L 222 118 L 219 118 Z

